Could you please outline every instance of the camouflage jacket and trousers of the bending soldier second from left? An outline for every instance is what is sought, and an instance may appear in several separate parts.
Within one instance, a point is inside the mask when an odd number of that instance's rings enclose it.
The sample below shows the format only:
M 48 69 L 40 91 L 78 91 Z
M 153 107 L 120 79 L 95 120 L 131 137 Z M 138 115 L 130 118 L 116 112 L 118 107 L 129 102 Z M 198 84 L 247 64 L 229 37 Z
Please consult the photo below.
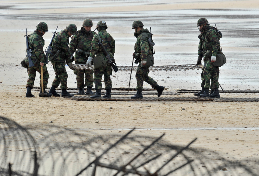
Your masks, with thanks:
M 71 63 L 70 53 L 69 53 L 69 35 L 68 30 L 64 29 L 56 34 L 52 43 L 52 53 L 53 55 L 48 57 L 51 60 L 53 69 L 55 71 L 55 79 L 52 82 L 52 86 L 57 88 L 60 85 L 61 89 L 67 89 L 67 72 L 66 63 Z M 57 51 L 59 53 L 57 54 Z M 66 61 L 66 63 L 65 63 Z

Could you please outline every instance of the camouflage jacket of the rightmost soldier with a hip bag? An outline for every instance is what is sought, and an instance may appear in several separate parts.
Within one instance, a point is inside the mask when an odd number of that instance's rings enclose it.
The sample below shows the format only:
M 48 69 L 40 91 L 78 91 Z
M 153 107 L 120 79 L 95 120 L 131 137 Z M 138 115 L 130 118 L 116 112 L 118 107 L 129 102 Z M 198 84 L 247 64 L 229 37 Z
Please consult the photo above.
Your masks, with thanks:
M 209 25 L 204 27 L 206 27 L 204 29 L 204 33 L 198 36 L 200 39 L 198 55 L 199 57 L 204 57 L 204 61 L 207 61 L 211 56 L 217 55 L 218 50 L 220 49 L 220 43 L 217 32 L 213 29 L 210 29 L 211 26 Z M 207 53 L 206 51 L 210 52 Z

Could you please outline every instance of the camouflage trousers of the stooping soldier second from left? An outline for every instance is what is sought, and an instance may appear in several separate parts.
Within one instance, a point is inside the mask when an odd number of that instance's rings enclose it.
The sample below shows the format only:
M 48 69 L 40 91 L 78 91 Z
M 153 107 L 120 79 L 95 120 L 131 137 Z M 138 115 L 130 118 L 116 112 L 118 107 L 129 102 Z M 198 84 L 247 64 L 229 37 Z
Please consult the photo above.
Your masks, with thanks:
M 59 87 L 61 89 L 67 89 L 67 72 L 66 72 L 66 64 L 65 63 L 59 63 L 59 62 L 52 62 L 53 69 L 55 71 L 55 79 L 52 82 L 52 86 L 55 88 Z

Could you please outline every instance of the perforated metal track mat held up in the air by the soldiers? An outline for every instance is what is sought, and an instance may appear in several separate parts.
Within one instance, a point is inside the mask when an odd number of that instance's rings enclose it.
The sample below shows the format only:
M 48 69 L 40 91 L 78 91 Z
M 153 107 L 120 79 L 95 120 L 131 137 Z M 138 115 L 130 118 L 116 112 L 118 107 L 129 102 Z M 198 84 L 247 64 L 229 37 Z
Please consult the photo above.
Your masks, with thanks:
M 85 64 L 73 64 L 75 69 L 93 70 L 94 66 L 87 67 Z M 118 66 L 118 71 L 131 71 L 131 66 Z M 197 64 L 184 64 L 184 65 L 163 65 L 151 66 L 149 71 L 180 71 L 180 70 L 199 70 Z M 137 66 L 133 66 L 132 71 L 137 71 Z

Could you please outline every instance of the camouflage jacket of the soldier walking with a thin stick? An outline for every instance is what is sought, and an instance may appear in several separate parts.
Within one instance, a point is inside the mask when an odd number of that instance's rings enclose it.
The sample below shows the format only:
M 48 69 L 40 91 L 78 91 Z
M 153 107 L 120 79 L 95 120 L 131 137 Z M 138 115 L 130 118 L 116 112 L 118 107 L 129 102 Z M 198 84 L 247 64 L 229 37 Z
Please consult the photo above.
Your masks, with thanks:
M 141 53 L 141 60 L 147 61 L 147 55 L 152 55 L 153 48 L 150 48 L 148 39 L 151 37 L 148 29 L 141 29 L 139 32 L 134 33 L 137 37 L 137 42 L 135 43 L 135 52 Z

